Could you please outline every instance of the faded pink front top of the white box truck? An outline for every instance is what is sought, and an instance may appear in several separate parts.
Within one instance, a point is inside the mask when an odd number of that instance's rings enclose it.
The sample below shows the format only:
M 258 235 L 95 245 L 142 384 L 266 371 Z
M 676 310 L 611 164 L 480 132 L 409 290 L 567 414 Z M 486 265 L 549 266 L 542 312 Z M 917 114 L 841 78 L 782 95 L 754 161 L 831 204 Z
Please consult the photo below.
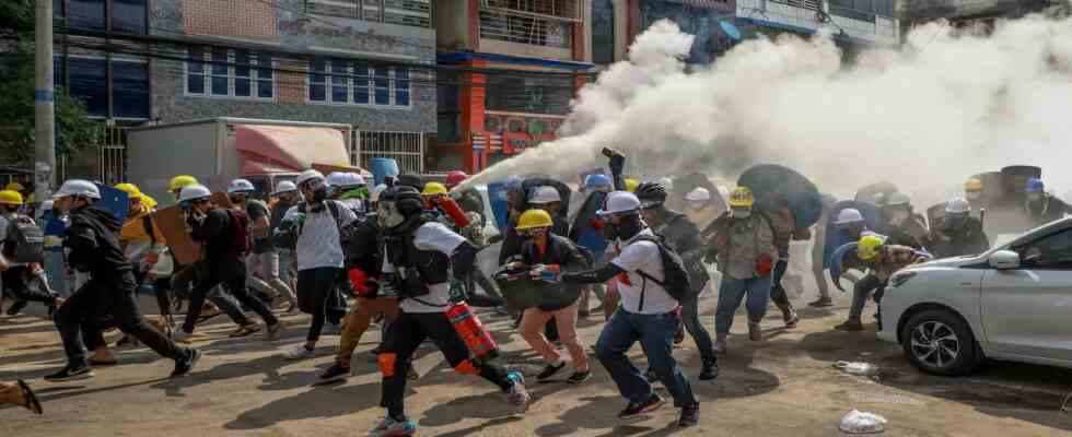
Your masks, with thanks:
M 331 128 L 238 125 L 234 146 L 247 175 L 301 172 L 313 163 L 350 164 L 342 131 Z

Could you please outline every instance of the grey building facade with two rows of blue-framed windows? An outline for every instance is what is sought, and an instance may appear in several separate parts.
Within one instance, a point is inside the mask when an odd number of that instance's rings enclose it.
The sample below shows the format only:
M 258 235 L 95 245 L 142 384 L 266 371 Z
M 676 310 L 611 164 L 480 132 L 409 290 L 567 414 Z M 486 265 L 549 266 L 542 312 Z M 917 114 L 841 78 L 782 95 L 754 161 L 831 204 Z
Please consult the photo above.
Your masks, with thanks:
M 435 132 L 432 0 L 56 4 L 66 19 L 57 84 L 109 126 L 222 116 L 347 123 L 353 164 L 391 155 L 424 167 Z

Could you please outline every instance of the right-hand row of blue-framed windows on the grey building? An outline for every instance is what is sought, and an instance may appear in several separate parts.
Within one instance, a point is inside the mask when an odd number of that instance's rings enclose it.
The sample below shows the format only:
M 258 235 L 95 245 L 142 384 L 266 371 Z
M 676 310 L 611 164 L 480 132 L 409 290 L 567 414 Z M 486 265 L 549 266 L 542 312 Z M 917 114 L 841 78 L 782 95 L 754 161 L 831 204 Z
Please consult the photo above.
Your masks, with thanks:
M 308 101 L 334 105 L 410 106 L 409 70 L 369 67 L 340 59 L 315 60 L 308 68 Z

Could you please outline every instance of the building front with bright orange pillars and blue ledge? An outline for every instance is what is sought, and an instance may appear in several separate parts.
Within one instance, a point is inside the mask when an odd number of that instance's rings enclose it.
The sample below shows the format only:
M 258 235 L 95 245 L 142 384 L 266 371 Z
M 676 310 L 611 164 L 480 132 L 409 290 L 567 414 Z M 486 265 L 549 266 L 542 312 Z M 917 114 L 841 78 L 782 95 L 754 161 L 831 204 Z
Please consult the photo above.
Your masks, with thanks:
M 592 69 L 590 0 L 436 0 L 439 169 L 555 139 Z

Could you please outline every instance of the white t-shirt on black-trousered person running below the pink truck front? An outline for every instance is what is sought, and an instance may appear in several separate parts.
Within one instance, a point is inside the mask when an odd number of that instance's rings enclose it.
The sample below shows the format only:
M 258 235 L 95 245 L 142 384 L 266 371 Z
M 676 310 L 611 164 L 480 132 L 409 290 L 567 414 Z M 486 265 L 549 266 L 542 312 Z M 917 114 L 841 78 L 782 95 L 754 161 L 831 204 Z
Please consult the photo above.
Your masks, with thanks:
M 327 202 L 336 202 L 328 200 Z M 291 206 L 283 216 L 283 220 L 296 220 L 298 206 Z M 346 205 L 339 203 L 339 223 L 331 216 L 330 206 L 324 205 L 324 211 L 313 212 L 305 205 L 305 224 L 302 225 L 302 235 L 298 237 L 298 247 L 294 250 L 298 257 L 298 270 L 310 270 L 321 267 L 342 268 L 342 245 L 339 244 L 339 224 L 346 226 L 358 220 Z

